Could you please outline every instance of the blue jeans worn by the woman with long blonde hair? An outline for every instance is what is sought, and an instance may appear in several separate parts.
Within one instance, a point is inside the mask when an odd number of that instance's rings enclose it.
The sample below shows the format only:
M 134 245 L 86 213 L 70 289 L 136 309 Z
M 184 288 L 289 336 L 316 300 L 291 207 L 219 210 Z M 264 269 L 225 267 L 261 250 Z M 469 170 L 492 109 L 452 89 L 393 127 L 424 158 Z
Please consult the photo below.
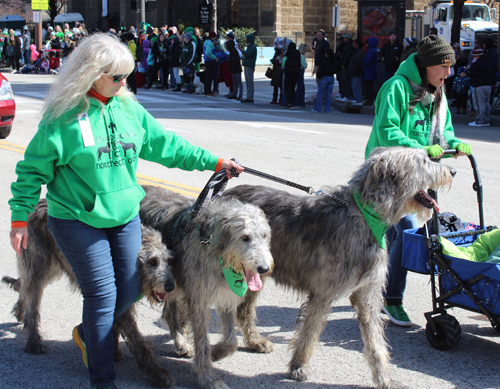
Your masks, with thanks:
M 141 220 L 94 228 L 78 220 L 49 216 L 47 227 L 75 273 L 83 295 L 82 327 L 90 383 L 113 385 L 113 323 L 141 294 L 137 255 Z

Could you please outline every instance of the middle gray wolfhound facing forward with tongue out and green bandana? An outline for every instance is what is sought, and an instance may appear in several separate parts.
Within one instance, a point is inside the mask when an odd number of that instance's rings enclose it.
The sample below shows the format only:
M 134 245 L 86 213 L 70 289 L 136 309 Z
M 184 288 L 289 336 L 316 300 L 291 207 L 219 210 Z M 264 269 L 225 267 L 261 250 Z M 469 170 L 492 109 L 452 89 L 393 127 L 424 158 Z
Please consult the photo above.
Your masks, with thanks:
M 141 220 L 169 236 L 178 215 L 192 201 L 177 193 L 157 187 L 145 187 Z M 212 366 L 234 353 L 236 307 L 243 297 L 231 291 L 223 268 L 232 266 L 240 272 L 239 285 L 246 279 L 250 290 L 262 286 L 260 276 L 271 271 L 271 229 L 258 207 L 238 200 L 218 200 L 196 217 L 194 229 L 174 250 L 172 272 L 176 289 L 167 297 L 163 318 L 180 355 L 191 356 L 185 335 L 191 325 L 194 341 L 194 371 L 201 388 L 227 388 Z M 244 276 L 243 276 L 244 275 Z M 231 280 L 231 282 L 235 282 Z M 248 293 L 248 292 L 247 292 Z M 210 307 L 215 305 L 223 327 L 222 340 L 213 348 L 208 339 Z

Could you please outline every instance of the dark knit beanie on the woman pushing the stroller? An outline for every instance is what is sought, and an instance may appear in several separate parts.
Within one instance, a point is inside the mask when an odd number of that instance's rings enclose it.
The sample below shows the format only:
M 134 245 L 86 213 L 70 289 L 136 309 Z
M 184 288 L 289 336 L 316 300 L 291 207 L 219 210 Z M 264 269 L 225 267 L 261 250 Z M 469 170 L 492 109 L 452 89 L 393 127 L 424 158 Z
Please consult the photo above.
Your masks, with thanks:
M 428 35 L 417 44 L 417 65 L 428 68 L 430 66 L 451 64 L 455 65 L 455 52 L 451 45 L 437 35 Z

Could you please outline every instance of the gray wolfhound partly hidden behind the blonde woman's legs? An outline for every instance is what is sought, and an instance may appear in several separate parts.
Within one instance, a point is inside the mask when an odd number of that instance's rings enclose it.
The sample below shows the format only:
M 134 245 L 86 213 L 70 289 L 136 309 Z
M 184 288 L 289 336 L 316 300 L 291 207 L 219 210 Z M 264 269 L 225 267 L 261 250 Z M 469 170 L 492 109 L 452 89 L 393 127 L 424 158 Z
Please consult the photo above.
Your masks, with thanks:
M 19 300 L 12 313 L 24 323 L 27 335 L 26 352 L 43 354 L 47 347 L 39 332 L 40 303 L 43 290 L 63 275 L 69 279 L 73 292 L 78 283 L 68 261 L 61 253 L 52 234 L 47 229 L 47 202 L 41 200 L 28 219 L 28 248 L 17 257 L 19 278 L 3 277 L 3 282 L 19 292 Z M 167 293 L 175 287 L 170 271 L 171 253 L 162 242 L 161 235 L 148 227 L 142 227 L 142 247 L 138 256 L 139 276 L 142 293 L 151 304 L 162 302 Z M 140 370 L 146 374 L 148 382 L 155 387 L 170 387 L 174 380 L 167 369 L 162 367 L 137 327 L 134 305 L 115 323 L 115 360 L 121 358 L 118 339 L 121 335 L 136 357 Z

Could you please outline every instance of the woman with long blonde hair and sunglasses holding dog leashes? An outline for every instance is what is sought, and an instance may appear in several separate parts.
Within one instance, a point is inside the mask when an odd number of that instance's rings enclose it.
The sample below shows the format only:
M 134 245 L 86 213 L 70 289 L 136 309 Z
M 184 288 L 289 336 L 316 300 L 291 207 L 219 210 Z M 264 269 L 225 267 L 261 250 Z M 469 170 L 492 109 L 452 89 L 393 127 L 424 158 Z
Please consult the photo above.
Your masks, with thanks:
M 165 131 L 125 88 L 133 69 L 118 38 L 96 34 L 82 41 L 47 96 L 9 200 L 11 244 L 20 255 L 29 239 L 28 214 L 47 185 L 48 228 L 83 295 L 83 320 L 73 339 L 91 388 L 115 388 L 113 322 L 141 293 L 138 158 L 183 170 L 242 171 Z

